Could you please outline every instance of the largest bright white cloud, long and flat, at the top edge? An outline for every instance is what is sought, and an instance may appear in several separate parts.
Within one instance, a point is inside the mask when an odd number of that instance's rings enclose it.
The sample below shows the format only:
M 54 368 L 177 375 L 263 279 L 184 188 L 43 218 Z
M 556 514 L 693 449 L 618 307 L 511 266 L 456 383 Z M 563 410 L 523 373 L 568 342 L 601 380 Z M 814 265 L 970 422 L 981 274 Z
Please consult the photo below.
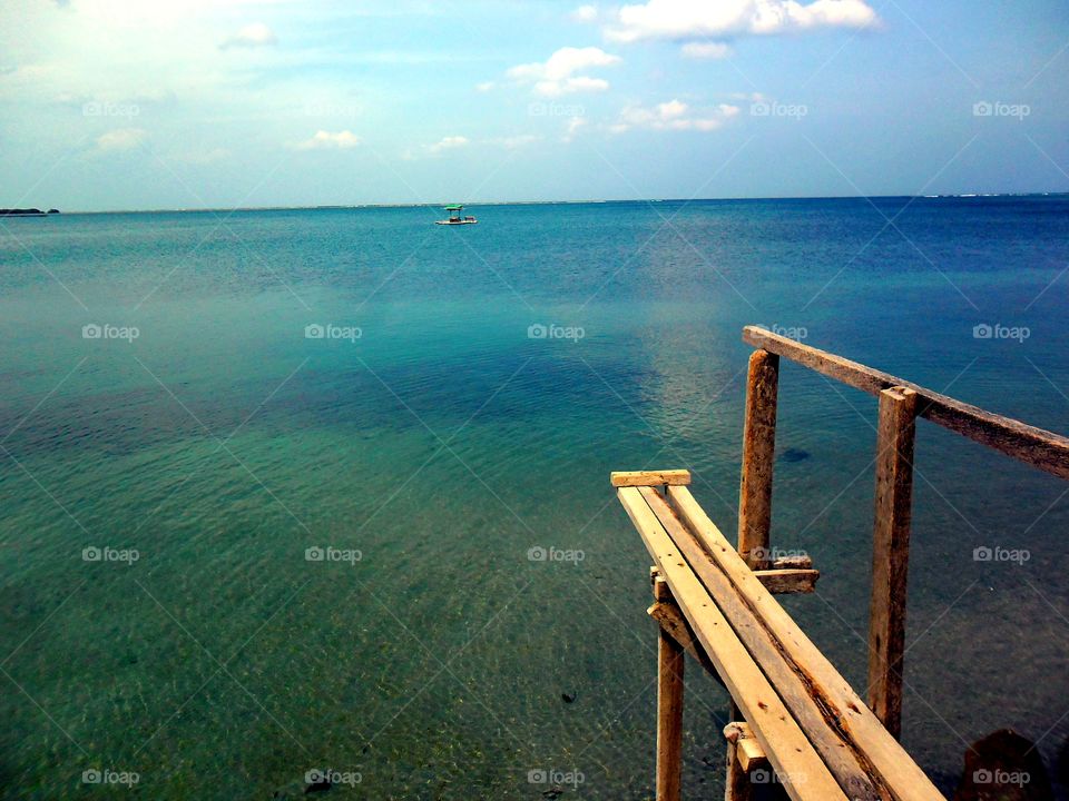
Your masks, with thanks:
M 606 29 L 610 41 L 724 39 L 815 28 L 864 28 L 877 21 L 864 0 L 648 0 L 624 6 Z

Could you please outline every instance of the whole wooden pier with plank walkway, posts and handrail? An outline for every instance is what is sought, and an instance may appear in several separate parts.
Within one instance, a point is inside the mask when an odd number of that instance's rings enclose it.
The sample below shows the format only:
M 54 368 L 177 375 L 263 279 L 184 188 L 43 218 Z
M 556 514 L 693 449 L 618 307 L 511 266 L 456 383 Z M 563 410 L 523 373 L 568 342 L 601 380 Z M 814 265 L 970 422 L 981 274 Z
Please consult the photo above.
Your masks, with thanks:
M 659 624 L 657 799 L 679 801 L 684 663 L 690 656 L 732 698 L 727 801 L 775 781 L 795 801 L 936 801 L 943 797 L 899 744 L 913 494 L 922 417 L 1062 478 L 1069 438 L 895 376 L 746 327 L 749 359 L 737 545 L 690 494 L 687 471 L 611 475 L 654 566 Z M 813 592 L 807 558 L 774 561 L 769 543 L 781 357 L 880 399 L 869 698 L 861 699 L 775 600 Z

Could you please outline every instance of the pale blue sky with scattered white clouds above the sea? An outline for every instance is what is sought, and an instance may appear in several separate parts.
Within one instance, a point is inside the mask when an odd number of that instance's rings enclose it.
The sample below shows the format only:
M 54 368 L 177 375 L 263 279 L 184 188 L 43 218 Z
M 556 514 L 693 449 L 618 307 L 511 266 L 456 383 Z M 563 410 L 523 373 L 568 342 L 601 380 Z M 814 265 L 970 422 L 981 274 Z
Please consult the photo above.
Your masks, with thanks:
M 0 0 L 0 206 L 1069 191 L 1060 0 Z

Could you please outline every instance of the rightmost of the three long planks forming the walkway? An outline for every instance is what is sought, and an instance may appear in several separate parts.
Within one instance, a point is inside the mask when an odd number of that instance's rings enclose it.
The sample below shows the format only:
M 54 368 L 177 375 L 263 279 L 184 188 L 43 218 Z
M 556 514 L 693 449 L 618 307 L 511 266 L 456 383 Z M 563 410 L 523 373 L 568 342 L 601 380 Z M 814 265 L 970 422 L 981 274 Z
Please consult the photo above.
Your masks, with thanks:
M 694 500 L 690 491 L 686 487 L 671 487 L 668 490 L 668 498 L 739 595 L 776 637 L 784 656 L 805 671 L 814 691 L 820 694 L 822 708 L 836 718 L 841 730 L 862 750 L 871 772 L 890 784 L 899 801 L 944 801 L 924 771 L 883 726 L 820 649 L 798 629 L 775 597 L 761 585 L 732 544 Z M 746 720 L 753 723 L 748 715 Z M 765 743 L 762 742 L 762 745 Z

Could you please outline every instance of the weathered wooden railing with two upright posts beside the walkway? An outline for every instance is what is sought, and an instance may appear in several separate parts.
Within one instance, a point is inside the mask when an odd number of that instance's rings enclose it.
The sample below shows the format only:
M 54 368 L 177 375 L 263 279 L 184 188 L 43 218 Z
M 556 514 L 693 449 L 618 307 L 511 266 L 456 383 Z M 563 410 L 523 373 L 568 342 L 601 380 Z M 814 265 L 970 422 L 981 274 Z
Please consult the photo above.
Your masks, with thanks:
M 916 418 L 923 417 L 1062 478 L 1069 478 L 1069 438 L 763 328 L 747 326 L 743 339 L 756 350 L 749 358 L 746 393 L 738 552 L 753 570 L 767 567 L 765 556 L 769 553 L 779 358 L 880 398 L 869 611 L 869 705 L 884 726 L 899 736 Z

